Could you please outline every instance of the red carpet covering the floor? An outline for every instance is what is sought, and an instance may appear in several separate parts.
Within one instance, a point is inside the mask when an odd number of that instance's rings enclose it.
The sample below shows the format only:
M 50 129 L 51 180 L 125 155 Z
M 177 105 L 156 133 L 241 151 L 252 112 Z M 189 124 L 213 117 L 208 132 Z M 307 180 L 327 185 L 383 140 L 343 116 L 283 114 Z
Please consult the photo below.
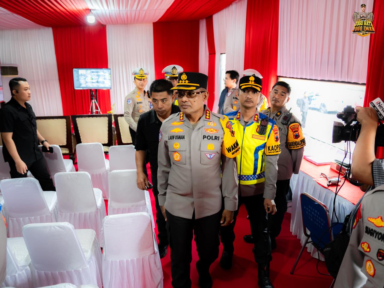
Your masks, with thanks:
M 108 158 L 108 155 L 107 155 Z M 77 170 L 77 165 L 76 165 Z M 148 171 L 150 172 L 149 165 Z M 149 178 L 151 176 L 149 175 Z M 150 190 L 153 215 L 156 221 L 155 200 Z M 108 207 L 108 201 L 106 201 Z M 297 255 L 301 249 L 300 240 L 290 232 L 291 214 L 286 213 L 283 222 L 283 228 L 280 236 L 276 239 L 277 248 L 272 251 L 273 260 L 271 262 L 271 281 L 275 288 L 328 288 L 331 285 L 332 277 L 319 275 L 316 271 L 317 260 L 311 257 L 310 253 L 304 250 L 303 255 L 296 267 L 295 274 L 290 271 Z M 157 228 L 155 228 L 157 235 Z M 252 248 L 253 245 L 243 241 L 243 235 L 250 233 L 249 221 L 247 220 L 247 210 L 242 206 L 237 218 L 235 227 L 237 235 L 235 240 L 235 255 L 233 256 L 233 265 L 231 270 L 223 270 L 219 265 L 222 246 L 220 245 L 219 258 L 210 268 L 213 288 L 256 288 L 257 285 L 257 264 L 254 261 Z M 192 263 L 190 277 L 192 288 L 198 288 L 197 282 L 199 275 L 196 271 L 196 261 L 198 255 L 195 242 L 192 244 Z M 170 274 L 170 249 L 167 255 L 161 259 L 164 273 L 164 288 L 172 288 Z M 321 273 L 328 273 L 325 263 L 320 261 L 319 270 Z

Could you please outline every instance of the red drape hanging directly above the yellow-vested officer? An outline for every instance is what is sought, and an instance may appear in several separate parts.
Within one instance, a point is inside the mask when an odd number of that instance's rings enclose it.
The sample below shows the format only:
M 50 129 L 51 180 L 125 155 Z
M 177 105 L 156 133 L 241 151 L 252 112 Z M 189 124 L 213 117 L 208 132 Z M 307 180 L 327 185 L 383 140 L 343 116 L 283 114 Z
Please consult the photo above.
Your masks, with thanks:
M 248 1 L 244 69 L 263 75 L 261 92 L 267 98 L 277 80 L 278 32 L 279 0 Z

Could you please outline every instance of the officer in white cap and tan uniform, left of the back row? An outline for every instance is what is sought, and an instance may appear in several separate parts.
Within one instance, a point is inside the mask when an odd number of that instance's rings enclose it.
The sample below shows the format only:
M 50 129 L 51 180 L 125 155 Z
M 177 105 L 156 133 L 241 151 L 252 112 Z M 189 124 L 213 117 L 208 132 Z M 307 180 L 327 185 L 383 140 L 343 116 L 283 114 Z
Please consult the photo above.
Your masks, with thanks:
M 136 88 L 124 99 L 124 119 L 129 124 L 132 143 L 135 143 L 137 121 L 139 121 L 140 115 L 152 109 L 151 100 L 144 90 L 148 82 L 148 74 L 147 69 L 142 67 L 138 67 L 132 72 Z

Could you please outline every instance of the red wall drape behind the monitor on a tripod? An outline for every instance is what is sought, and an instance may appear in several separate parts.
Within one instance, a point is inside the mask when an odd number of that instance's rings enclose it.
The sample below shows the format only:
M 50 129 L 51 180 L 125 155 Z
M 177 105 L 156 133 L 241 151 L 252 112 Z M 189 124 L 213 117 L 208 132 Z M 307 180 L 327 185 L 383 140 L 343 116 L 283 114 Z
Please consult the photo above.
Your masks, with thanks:
M 108 68 L 106 27 L 53 28 L 53 40 L 64 115 L 88 114 L 89 90 L 74 90 L 73 68 Z M 98 90 L 102 113 L 111 110 L 109 90 Z

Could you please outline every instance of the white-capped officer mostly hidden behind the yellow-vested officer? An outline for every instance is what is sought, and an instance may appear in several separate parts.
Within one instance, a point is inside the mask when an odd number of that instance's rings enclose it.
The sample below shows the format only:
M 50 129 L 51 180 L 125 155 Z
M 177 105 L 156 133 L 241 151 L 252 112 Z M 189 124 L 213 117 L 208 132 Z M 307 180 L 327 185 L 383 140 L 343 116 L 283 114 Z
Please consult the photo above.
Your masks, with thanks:
M 262 79 L 263 76 L 255 69 L 247 69 L 243 71 L 244 76 L 255 75 L 258 78 Z M 227 97 L 224 101 L 224 113 L 230 113 L 237 111 L 240 108 L 240 102 L 238 99 L 239 90 L 237 88 L 232 89 L 227 93 Z M 257 110 L 261 111 L 268 108 L 268 100 L 263 94 L 260 94 L 259 102 L 257 103 Z

